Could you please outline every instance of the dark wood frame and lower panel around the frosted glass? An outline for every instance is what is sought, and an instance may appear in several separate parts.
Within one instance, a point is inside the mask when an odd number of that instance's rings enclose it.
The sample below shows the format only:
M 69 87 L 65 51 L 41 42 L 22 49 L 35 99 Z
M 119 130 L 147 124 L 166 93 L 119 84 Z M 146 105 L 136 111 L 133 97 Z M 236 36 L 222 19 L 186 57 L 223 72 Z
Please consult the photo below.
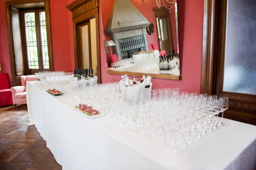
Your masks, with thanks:
M 224 92 L 227 0 L 204 0 L 201 93 L 226 96 L 224 118 L 256 125 L 256 95 Z

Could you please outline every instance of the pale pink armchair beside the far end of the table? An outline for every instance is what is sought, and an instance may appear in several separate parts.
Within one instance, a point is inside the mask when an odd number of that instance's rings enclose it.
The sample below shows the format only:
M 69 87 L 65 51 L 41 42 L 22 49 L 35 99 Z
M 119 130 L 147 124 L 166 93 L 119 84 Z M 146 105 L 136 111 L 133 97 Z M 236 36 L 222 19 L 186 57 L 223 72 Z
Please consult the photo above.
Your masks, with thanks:
M 26 81 L 36 81 L 35 75 L 22 75 L 20 76 L 21 85 L 11 88 L 12 101 L 16 106 L 17 104 L 26 104 Z

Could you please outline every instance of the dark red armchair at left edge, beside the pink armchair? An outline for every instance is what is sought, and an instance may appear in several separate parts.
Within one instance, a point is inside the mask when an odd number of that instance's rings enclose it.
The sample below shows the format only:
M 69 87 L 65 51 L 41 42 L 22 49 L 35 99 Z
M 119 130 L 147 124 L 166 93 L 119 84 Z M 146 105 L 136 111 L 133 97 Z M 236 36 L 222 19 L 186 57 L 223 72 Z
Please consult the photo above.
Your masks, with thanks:
M 12 92 L 10 89 L 7 73 L 0 73 L 0 107 L 12 103 Z

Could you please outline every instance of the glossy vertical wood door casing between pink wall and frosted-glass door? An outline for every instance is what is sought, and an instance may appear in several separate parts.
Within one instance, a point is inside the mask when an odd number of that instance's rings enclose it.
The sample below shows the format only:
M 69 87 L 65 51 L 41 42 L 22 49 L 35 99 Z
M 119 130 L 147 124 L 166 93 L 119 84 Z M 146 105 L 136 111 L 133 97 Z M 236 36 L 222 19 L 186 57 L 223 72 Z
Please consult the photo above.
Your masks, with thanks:
M 215 94 L 218 55 L 218 0 L 204 0 L 201 93 Z M 215 35 L 215 36 L 213 36 Z

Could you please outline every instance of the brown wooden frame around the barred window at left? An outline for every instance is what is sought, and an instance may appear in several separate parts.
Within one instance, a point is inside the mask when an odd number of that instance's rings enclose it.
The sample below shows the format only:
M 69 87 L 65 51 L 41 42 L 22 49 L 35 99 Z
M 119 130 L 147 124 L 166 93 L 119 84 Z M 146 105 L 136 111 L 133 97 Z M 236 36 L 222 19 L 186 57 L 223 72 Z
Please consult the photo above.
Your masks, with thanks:
M 49 70 L 53 71 L 52 37 L 51 37 L 51 25 L 50 25 L 49 0 L 11 0 L 11 1 L 5 1 L 7 37 L 8 37 L 9 58 L 10 58 L 11 74 L 12 74 L 11 77 L 12 77 L 12 85 L 13 86 L 15 86 L 17 84 L 17 78 L 16 78 L 14 45 L 12 43 L 13 42 L 13 36 L 12 36 L 12 18 L 11 18 L 11 13 L 10 13 L 10 7 L 15 6 L 15 5 L 19 5 L 19 4 L 26 4 L 26 3 L 44 3 L 44 9 L 45 9 L 45 15 L 46 15 L 46 24 L 47 24 L 46 27 L 47 27 L 47 43 L 48 43 L 48 55 L 49 55 Z M 21 28 L 23 29 L 23 27 L 21 27 Z M 26 65 L 24 65 L 24 66 L 26 66 Z M 30 74 L 30 72 L 26 72 L 26 74 Z

